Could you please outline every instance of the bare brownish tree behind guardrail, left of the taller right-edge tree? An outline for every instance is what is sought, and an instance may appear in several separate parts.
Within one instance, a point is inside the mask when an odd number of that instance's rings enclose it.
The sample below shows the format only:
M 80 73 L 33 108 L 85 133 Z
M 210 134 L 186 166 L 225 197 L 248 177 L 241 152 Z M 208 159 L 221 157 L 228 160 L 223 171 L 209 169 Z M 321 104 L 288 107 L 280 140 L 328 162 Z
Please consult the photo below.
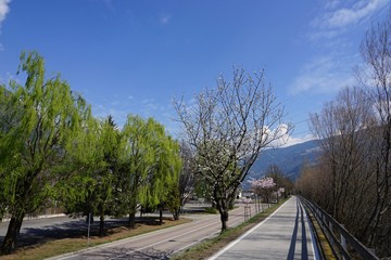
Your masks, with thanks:
M 354 222 L 352 218 L 360 208 L 351 203 L 362 198 L 365 194 L 362 191 L 368 188 L 371 142 L 367 133 L 373 122 L 371 105 L 360 88 L 341 90 L 321 113 L 311 115 L 312 131 L 319 138 L 324 152 L 321 167 L 329 176 L 329 183 L 325 185 L 330 185 L 331 205 L 325 206 L 337 220 L 345 223 Z

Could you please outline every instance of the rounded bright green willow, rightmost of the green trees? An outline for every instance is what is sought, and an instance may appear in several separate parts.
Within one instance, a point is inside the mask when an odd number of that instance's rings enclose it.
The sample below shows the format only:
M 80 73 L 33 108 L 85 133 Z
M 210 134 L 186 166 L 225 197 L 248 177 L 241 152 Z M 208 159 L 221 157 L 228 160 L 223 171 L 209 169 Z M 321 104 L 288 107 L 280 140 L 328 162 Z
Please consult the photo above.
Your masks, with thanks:
M 155 208 L 167 196 L 180 168 L 178 144 L 154 119 L 129 115 L 123 129 L 122 170 L 117 180 L 121 191 L 117 200 L 129 214 L 129 226 L 135 226 L 138 205 Z

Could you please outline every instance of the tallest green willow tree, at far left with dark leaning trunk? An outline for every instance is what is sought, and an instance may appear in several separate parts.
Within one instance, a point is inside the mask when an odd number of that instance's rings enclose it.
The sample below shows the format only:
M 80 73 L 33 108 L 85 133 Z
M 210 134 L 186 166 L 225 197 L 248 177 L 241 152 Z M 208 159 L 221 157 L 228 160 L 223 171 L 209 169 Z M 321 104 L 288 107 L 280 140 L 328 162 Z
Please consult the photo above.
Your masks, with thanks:
M 11 214 L 2 253 L 16 247 L 23 218 L 50 203 L 53 186 L 63 178 L 58 167 L 66 145 L 90 115 L 85 100 L 60 76 L 46 78 L 43 57 L 22 53 L 18 73 L 24 86 L 11 81 L 1 88 L 1 187 Z

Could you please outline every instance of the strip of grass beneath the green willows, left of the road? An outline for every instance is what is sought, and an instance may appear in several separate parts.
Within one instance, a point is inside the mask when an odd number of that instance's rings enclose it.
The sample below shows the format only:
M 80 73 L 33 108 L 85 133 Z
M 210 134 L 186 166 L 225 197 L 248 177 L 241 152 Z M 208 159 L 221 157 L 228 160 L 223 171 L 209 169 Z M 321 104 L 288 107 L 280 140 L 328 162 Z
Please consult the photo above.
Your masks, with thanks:
M 169 226 L 178 225 L 188 223 L 191 220 L 181 218 L 177 221 L 174 221 L 169 218 L 164 219 L 163 225 L 150 225 L 150 224 L 143 224 L 138 223 L 136 225 L 136 229 L 128 229 L 125 226 L 114 227 L 112 230 L 109 230 L 108 233 L 110 235 L 104 237 L 99 236 L 91 236 L 89 239 L 89 245 L 87 245 L 87 237 L 75 237 L 75 238 L 64 238 L 64 239 L 58 239 L 58 240 L 51 240 L 45 244 L 34 245 L 34 246 L 27 246 L 23 248 L 18 248 L 16 251 L 14 251 L 11 255 L 8 256 L 0 256 L 0 259 L 2 260 L 38 260 L 38 259 L 46 259 L 50 257 L 55 257 L 59 255 L 73 252 L 77 250 L 81 250 L 88 247 L 93 247 L 111 242 L 115 242 L 118 239 L 124 239 L 141 234 L 146 234 L 149 232 L 166 229 Z

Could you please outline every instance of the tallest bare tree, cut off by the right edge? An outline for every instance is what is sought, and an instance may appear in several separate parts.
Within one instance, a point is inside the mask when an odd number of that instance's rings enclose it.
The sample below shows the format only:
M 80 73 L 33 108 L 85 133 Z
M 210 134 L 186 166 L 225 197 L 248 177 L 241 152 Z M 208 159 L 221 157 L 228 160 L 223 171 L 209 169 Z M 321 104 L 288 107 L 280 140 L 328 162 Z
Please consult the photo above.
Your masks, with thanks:
M 357 76 L 367 87 L 374 103 L 377 114 L 375 134 L 378 136 L 375 150 L 378 152 L 375 164 L 376 199 L 373 221 L 366 232 L 370 236 L 370 245 L 384 242 L 391 253 L 391 13 L 367 31 L 361 53 L 366 66 Z

